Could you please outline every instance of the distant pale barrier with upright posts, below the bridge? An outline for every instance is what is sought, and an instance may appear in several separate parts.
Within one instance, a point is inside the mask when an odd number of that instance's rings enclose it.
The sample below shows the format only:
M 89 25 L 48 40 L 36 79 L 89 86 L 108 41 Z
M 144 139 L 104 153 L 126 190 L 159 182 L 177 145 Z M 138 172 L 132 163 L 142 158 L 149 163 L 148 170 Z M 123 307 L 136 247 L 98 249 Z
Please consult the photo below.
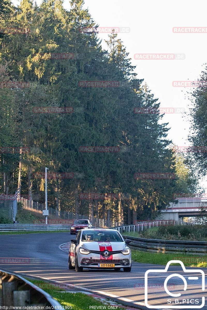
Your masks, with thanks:
M 122 226 L 115 226 L 111 227 L 111 229 L 116 229 L 119 232 L 140 232 L 143 229 L 148 229 L 152 227 L 158 226 L 169 226 L 169 225 L 195 225 L 192 223 L 187 223 L 183 221 L 171 221 L 171 220 L 159 220 L 159 221 L 152 221 L 152 222 L 140 222 L 136 225 L 122 225 Z

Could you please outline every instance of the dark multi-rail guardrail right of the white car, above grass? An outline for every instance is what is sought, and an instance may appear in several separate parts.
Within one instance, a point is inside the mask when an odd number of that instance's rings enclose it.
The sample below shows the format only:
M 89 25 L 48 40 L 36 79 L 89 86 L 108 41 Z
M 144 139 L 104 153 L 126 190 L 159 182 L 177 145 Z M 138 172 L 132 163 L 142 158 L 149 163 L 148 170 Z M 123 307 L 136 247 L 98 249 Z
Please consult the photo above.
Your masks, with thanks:
M 207 255 L 206 241 L 158 240 L 131 236 L 123 236 L 123 238 L 132 240 L 129 245 L 130 248 L 139 251 L 166 254 L 185 253 L 189 255 Z

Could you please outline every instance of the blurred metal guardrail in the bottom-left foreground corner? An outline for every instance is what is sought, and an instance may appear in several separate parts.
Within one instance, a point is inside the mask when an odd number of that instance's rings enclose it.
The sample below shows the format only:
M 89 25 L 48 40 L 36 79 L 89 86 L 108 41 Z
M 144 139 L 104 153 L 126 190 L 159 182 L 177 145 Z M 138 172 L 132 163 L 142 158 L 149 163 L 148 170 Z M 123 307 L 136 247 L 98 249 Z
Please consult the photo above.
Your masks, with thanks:
M 52 296 L 33 283 L 0 270 L 0 308 L 12 309 L 12 306 L 24 309 L 64 309 Z

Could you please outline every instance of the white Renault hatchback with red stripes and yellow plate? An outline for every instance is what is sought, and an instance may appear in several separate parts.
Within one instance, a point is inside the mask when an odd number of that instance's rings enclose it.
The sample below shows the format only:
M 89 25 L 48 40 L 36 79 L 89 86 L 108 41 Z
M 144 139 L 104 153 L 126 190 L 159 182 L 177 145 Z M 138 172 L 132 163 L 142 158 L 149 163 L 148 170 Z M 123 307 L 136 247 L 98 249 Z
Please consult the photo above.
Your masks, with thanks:
M 123 239 L 114 229 L 81 229 L 76 239 L 71 239 L 68 256 L 69 269 L 83 268 L 115 269 L 130 272 L 131 251 L 127 246 L 131 240 Z

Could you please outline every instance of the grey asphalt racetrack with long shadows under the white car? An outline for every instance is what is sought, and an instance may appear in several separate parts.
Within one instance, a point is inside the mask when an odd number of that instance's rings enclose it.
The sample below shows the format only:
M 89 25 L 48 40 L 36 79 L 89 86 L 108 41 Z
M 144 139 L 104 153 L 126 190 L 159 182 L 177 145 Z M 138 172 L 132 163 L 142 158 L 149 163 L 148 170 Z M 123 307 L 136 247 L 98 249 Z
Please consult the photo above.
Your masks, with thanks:
M 39 277 L 58 281 L 94 291 L 101 291 L 110 296 L 119 296 L 120 299 L 131 301 L 136 307 L 145 306 L 145 272 L 148 269 L 164 269 L 164 266 L 133 263 L 131 272 L 123 269 L 95 270 L 83 269 L 83 272 L 75 272 L 68 269 L 68 253 L 59 249 L 63 243 L 70 242 L 68 232 L 60 233 L 35 233 L 22 235 L 0 235 L 0 269 L 9 272 L 17 272 L 22 275 Z M 11 258 L 19 259 L 16 262 L 8 262 Z M 147 300 L 153 308 L 171 308 L 175 305 L 182 309 L 196 309 L 202 303 L 202 297 L 207 297 L 206 290 L 202 291 L 202 275 L 198 272 L 191 274 L 183 272 L 181 267 L 171 266 L 168 272 L 151 272 L 148 275 Z M 202 269 L 205 272 L 205 268 Z M 181 278 L 169 279 L 167 288 L 172 294 L 182 295 L 174 297 L 164 291 L 164 281 L 170 274 L 180 274 L 187 280 L 187 290 L 183 291 L 184 283 Z M 188 277 L 193 277 L 188 279 Z M 76 288 L 77 289 L 77 288 Z M 81 290 L 81 289 L 80 289 Z M 184 296 L 184 297 L 183 297 Z M 196 307 L 197 306 L 197 307 Z M 199 307 L 200 308 L 200 307 Z M 207 310 L 207 303 L 202 309 Z

